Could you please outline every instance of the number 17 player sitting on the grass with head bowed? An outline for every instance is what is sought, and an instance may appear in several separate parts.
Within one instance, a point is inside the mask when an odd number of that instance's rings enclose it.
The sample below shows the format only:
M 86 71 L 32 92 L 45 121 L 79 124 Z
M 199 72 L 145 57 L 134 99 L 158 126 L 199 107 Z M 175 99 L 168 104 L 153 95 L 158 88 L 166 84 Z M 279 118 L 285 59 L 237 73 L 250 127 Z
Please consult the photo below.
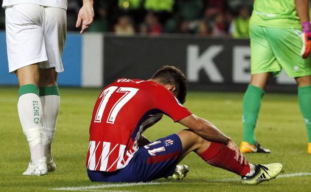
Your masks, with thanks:
M 149 80 L 120 78 L 100 93 L 90 125 L 87 173 L 93 182 L 148 182 L 182 179 L 187 166 L 176 166 L 195 152 L 206 163 L 242 176 L 243 184 L 276 178 L 280 163 L 247 162 L 236 144 L 213 124 L 192 114 L 185 75 L 164 66 Z M 150 142 L 142 133 L 165 114 L 188 129 Z

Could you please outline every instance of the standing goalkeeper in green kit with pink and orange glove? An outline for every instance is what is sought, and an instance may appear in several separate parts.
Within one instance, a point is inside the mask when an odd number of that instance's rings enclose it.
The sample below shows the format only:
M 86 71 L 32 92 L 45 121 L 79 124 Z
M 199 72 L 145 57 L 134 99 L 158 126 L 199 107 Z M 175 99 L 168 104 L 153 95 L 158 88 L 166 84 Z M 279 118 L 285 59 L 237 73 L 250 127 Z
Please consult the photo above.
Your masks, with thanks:
M 255 0 L 250 18 L 251 82 L 243 99 L 242 153 L 270 153 L 254 129 L 267 81 L 282 68 L 295 78 L 311 154 L 311 30 L 309 0 Z

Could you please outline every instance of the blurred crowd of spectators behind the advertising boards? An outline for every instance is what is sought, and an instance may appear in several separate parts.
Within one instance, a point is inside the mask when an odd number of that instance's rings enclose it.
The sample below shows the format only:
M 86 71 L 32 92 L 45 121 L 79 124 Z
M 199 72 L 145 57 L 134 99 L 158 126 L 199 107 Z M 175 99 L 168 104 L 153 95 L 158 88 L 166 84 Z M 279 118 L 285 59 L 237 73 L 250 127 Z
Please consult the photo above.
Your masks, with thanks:
M 206 37 L 249 37 L 252 0 L 94 0 L 88 31 L 117 35 L 182 33 Z M 2 0 L 0 0 L 2 4 Z M 77 31 L 82 0 L 68 0 L 67 29 Z M 0 9 L 0 29 L 5 28 Z

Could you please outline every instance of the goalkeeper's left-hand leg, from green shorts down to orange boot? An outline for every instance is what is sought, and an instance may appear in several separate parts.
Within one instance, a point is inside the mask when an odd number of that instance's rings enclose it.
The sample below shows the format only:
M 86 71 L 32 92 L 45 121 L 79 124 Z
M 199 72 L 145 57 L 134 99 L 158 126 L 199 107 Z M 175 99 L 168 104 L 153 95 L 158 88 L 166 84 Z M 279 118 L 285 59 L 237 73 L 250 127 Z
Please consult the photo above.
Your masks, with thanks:
M 281 71 L 268 40 L 265 27 L 250 25 L 251 38 L 251 82 L 243 98 L 243 141 L 242 153 L 270 153 L 262 148 L 255 139 L 255 127 L 261 106 L 261 99 L 271 73 Z

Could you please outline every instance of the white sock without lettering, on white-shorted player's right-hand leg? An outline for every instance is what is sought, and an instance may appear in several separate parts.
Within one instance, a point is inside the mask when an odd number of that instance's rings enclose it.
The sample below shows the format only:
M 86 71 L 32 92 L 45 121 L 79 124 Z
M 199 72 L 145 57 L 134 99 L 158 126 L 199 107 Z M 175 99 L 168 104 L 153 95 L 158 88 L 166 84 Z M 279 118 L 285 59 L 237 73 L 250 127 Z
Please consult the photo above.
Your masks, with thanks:
M 55 135 L 56 120 L 59 111 L 59 96 L 45 95 L 40 96 L 43 108 L 42 117 L 42 153 L 50 160 L 51 158 L 51 144 Z

